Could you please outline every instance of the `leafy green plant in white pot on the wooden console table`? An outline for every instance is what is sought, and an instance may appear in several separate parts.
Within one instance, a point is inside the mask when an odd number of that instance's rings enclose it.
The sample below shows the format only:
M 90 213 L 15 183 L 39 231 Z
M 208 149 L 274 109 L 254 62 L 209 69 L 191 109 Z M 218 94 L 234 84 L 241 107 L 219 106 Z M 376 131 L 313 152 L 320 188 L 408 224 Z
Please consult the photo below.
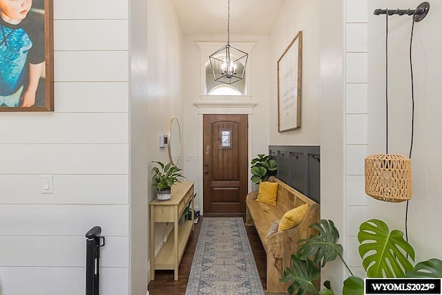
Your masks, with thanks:
M 171 188 L 175 182 L 181 182 L 180 178 L 186 179 L 182 175 L 182 169 L 174 166 L 171 162 L 164 164 L 160 161 L 152 161 L 153 166 L 153 185 L 157 186 L 157 200 L 169 200 Z

